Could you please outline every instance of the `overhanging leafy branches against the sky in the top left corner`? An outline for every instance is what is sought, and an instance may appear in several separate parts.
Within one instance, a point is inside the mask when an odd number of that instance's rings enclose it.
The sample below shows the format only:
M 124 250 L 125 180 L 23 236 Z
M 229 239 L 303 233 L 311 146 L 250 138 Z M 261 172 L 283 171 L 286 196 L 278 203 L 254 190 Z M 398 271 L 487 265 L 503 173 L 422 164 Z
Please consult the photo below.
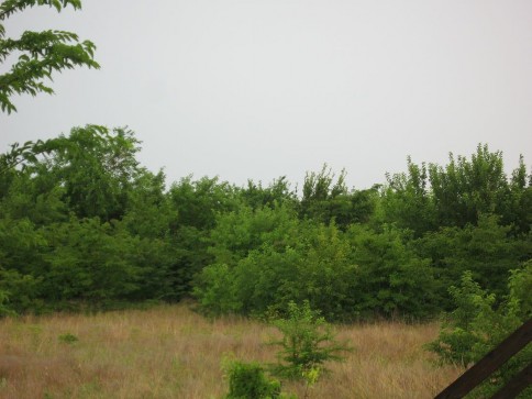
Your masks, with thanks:
M 76 33 L 25 31 L 19 38 L 5 37 L 4 21 L 13 13 L 34 5 L 48 5 L 60 12 L 67 5 L 80 9 L 81 0 L 5 0 L 0 3 L 0 64 L 12 55 L 19 55 L 10 70 L 0 75 L 0 108 L 3 112 L 16 111 L 10 100 L 13 95 L 53 93 L 45 79 L 52 79 L 55 71 L 77 66 L 100 67 L 93 59 L 95 44 L 80 42 Z

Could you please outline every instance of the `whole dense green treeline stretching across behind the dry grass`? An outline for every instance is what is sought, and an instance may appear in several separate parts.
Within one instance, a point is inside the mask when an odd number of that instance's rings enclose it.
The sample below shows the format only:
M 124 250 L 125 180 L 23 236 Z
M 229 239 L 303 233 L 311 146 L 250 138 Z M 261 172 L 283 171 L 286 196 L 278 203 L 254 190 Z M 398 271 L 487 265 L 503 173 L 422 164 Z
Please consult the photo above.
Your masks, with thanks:
M 308 300 L 332 321 L 423 319 L 466 270 L 505 298 L 532 258 L 532 175 L 502 154 L 415 165 L 369 189 L 345 173 L 166 186 L 124 129 L 88 125 L 0 156 L 0 313 L 193 297 L 210 314 Z M 530 268 L 529 268 L 530 269 Z

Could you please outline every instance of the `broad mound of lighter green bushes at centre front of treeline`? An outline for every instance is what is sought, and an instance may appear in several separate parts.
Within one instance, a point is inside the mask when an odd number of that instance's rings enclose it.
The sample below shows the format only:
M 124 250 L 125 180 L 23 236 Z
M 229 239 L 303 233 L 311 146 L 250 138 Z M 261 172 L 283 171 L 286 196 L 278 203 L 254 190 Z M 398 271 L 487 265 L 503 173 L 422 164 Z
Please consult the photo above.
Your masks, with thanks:
M 230 225 L 250 233 L 245 223 Z M 223 257 L 203 268 L 195 288 L 203 310 L 261 314 L 309 300 L 326 320 L 350 321 L 376 314 L 422 319 L 437 309 L 429 259 L 409 250 L 397 230 L 352 225 L 343 233 L 334 224 L 292 220 L 256 240 L 243 245 L 254 248 L 248 253 L 215 247 Z

